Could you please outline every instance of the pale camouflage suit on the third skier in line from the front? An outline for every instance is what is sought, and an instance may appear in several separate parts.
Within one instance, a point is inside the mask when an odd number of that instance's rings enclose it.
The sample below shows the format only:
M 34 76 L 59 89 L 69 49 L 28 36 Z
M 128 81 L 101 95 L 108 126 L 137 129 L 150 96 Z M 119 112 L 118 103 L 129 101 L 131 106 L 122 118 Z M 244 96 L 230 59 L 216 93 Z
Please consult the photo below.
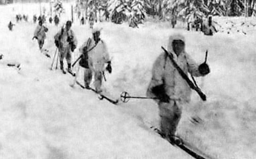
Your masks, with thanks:
M 71 45 L 68 43 L 67 39 L 69 36 L 72 36 L 72 42 L 75 46 L 77 46 L 78 41 L 76 39 L 76 36 L 74 34 L 74 31 L 69 29 L 66 31 L 66 28 L 64 29 L 63 33 L 60 30 L 55 36 L 54 40 L 59 42 L 59 57 L 60 57 L 60 62 L 63 62 L 63 59 L 66 58 L 67 63 L 71 64 Z

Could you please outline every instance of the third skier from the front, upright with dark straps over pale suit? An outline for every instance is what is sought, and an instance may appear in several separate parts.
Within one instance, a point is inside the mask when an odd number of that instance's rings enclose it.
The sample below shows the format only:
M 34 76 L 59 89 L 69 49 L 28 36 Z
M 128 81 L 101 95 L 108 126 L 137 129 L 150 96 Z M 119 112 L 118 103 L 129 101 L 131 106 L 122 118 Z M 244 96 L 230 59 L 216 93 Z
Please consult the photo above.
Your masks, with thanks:
M 66 58 L 68 63 L 68 72 L 73 73 L 71 70 L 71 52 L 74 52 L 78 42 L 74 31 L 70 29 L 71 26 L 72 22 L 67 21 L 65 28 L 62 27 L 62 29 L 54 36 L 55 45 L 59 50 L 60 69 L 62 70 L 63 74 L 66 74 L 63 68 L 64 58 Z

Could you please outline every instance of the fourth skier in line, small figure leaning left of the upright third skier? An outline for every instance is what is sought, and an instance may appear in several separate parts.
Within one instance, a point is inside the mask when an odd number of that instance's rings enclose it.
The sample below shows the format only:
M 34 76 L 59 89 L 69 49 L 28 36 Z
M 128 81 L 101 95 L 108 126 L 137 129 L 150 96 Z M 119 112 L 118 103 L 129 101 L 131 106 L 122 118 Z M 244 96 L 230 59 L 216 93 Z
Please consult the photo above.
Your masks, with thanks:
M 37 39 L 38 41 L 38 45 L 39 45 L 39 49 L 42 51 L 43 45 L 45 43 L 45 39 L 46 39 L 46 32 L 48 31 L 48 28 L 43 26 L 43 21 L 39 21 L 38 22 L 38 26 L 35 29 L 34 32 L 34 37 L 33 39 Z M 32 39 L 32 40 L 33 40 Z

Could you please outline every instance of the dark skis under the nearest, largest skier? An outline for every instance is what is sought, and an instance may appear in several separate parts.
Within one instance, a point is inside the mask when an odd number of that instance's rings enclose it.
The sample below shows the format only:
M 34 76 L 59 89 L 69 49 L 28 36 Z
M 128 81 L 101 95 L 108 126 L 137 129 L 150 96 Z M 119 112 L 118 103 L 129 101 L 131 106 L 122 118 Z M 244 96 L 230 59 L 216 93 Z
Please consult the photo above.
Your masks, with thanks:
M 155 128 L 154 126 L 151 126 L 150 128 L 153 129 L 156 133 L 158 133 L 162 138 L 167 140 L 169 143 L 171 143 L 175 147 L 182 149 L 195 159 L 213 159 L 213 157 L 205 154 L 204 152 L 196 148 L 194 145 L 186 142 L 179 136 L 166 137 L 159 129 Z

